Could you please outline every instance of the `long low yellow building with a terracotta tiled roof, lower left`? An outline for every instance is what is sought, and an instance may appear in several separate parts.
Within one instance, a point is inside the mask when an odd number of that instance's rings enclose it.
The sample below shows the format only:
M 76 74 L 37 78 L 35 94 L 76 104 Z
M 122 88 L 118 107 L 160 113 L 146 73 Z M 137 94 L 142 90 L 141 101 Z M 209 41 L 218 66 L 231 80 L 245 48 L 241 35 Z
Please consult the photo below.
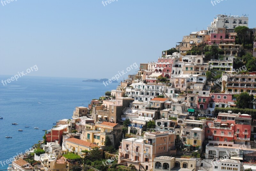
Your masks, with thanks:
M 96 144 L 86 142 L 77 138 L 69 138 L 65 141 L 66 152 L 73 152 L 81 157 L 84 157 L 86 154 L 82 152 L 83 150 L 91 151 L 93 148 L 99 148 L 102 153 L 102 149 Z

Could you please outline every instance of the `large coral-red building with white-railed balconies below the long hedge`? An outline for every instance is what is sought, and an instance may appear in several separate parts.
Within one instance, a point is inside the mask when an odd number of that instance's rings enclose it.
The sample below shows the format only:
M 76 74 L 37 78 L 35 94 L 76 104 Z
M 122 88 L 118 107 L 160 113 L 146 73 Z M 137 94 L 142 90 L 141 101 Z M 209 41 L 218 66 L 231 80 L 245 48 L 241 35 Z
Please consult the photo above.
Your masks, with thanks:
M 231 112 L 219 113 L 217 119 L 207 120 L 205 138 L 214 141 L 234 141 L 236 144 L 250 144 L 251 116 Z

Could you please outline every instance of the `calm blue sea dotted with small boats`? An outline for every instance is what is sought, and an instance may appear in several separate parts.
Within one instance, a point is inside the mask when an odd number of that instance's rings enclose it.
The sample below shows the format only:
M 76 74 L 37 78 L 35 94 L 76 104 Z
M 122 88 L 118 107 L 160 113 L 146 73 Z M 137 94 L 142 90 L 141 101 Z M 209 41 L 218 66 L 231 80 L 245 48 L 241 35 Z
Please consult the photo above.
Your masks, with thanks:
M 10 77 L 0 76 L 0 81 Z M 57 120 L 70 119 L 76 106 L 88 107 L 93 98 L 98 99 L 118 85 L 105 87 L 101 82 L 82 80 L 85 79 L 24 76 L 7 85 L 1 83 L 0 116 L 4 119 L 0 119 L 0 161 L 24 153 L 43 139 L 42 129 L 51 129 Z M 12 125 L 13 122 L 19 125 Z M 7 167 L 8 164 L 0 164 L 0 169 Z

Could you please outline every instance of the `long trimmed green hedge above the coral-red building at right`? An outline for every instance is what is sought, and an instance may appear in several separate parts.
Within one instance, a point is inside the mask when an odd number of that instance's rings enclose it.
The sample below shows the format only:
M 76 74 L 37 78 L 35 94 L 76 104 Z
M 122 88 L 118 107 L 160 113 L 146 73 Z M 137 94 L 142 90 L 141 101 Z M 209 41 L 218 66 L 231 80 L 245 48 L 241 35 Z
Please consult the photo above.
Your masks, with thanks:
M 230 107 L 215 107 L 214 113 L 228 113 L 228 111 L 232 111 L 232 113 L 241 113 L 241 114 L 249 114 L 252 116 L 252 119 L 256 119 L 256 109 L 240 109 L 240 108 L 230 108 Z

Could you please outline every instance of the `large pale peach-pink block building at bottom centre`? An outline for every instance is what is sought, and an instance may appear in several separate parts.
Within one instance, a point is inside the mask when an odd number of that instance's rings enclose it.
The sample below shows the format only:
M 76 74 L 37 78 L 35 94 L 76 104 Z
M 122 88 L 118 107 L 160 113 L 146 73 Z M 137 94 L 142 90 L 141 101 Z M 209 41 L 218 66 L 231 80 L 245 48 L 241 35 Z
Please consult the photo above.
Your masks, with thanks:
M 176 155 L 174 150 L 175 134 L 169 131 L 156 131 L 148 129 L 143 139 L 127 138 L 123 139 L 119 146 L 118 163 L 129 166 L 130 162 L 139 161 L 143 163 L 133 163 L 136 169 L 153 169 L 155 157 Z M 145 162 L 148 161 L 148 162 Z

